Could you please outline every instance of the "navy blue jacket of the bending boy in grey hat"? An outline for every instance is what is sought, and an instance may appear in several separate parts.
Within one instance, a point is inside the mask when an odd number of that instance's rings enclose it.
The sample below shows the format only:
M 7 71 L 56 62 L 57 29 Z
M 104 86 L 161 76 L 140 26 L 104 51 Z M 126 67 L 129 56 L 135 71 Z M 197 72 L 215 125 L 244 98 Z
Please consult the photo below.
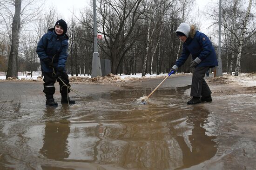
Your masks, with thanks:
M 202 60 L 196 67 L 209 66 L 212 68 L 218 65 L 214 47 L 209 38 L 202 32 L 195 31 L 194 38 L 189 37 L 183 43 L 182 56 L 176 61 L 175 65 L 181 67 L 188 59 L 189 54 L 192 55 L 192 60 L 195 60 L 196 57 Z

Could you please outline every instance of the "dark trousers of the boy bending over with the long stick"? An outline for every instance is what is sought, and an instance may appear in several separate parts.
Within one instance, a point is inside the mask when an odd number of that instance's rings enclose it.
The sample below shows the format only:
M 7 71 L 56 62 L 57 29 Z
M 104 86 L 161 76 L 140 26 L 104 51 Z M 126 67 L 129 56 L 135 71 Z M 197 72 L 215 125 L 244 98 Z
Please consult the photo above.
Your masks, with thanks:
M 208 84 L 205 82 L 203 77 L 205 76 L 206 71 L 209 67 L 196 67 L 193 76 L 192 76 L 192 84 L 191 84 L 191 92 L 190 95 L 194 97 L 208 97 L 211 95 L 211 90 Z

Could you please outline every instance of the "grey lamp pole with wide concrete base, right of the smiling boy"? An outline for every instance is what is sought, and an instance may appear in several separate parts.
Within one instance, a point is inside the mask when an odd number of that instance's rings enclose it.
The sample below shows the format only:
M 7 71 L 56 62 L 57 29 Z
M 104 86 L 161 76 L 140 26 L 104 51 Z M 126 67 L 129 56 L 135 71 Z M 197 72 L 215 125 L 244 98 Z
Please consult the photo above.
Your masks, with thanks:
M 93 53 L 93 64 L 92 64 L 92 77 L 96 77 L 96 76 L 102 76 L 101 59 L 98 53 L 98 42 L 97 42 L 96 0 L 93 1 L 93 8 L 94 8 L 94 53 Z

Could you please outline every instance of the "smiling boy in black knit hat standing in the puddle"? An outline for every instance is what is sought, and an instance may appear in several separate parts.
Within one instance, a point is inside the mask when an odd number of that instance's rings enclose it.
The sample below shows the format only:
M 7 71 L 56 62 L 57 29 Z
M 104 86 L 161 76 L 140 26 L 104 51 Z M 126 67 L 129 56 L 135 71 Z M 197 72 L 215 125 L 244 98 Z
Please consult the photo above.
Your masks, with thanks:
M 54 83 L 59 82 L 61 103 L 74 104 L 70 100 L 68 93 L 70 87 L 68 76 L 65 70 L 67 62 L 68 36 L 67 23 L 60 19 L 54 25 L 54 28 L 48 30 L 40 39 L 37 45 L 37 54 L 41 62 L 42 75 L 44 76 L 44 90 L 47 106 L 58 106 L 54 101 Z M 67 85 L 65 85 L 63 82 Z

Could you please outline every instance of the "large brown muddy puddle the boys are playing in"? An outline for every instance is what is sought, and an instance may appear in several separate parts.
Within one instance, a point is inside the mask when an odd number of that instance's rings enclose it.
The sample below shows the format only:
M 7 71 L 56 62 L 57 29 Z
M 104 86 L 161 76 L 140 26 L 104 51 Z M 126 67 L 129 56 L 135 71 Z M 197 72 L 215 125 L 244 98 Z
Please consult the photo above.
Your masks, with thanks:
M 68 107 L 44 101 L 3 109 L 0 169 L 170 170 L 215 156 L 216 118 L 188 106 L 184 88 L 146 89 L 77 98 Z

